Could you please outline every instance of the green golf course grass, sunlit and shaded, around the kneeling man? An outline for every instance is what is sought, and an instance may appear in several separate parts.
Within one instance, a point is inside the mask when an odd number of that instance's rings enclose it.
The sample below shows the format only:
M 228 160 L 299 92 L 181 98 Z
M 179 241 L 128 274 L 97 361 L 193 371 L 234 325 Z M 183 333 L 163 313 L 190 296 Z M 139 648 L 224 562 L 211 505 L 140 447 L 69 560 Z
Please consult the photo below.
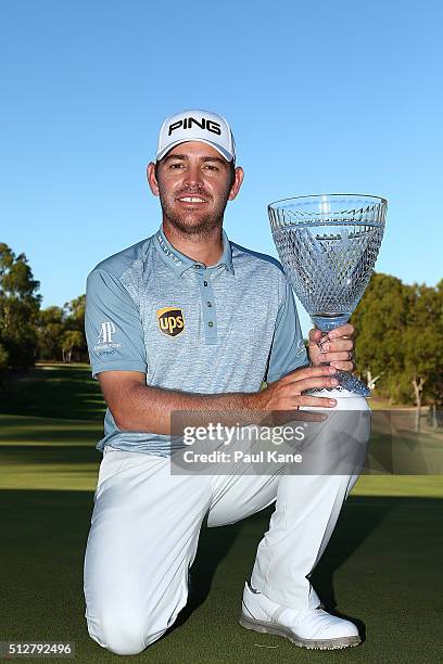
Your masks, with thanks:
M 89 638 L 84 618 L 83 560 L 103 412 L 86 365 L 37 367 L 0 393 L 0 641 L 72 640 L 81 664 L 123 661 Z M 417 438 L 402 422 L 407 445 L 441 451 L 439 435 Z M 375 438 L 374 468 L 383 440 Z M 202 531 L 187 609 L 170 634 L 130 661 L 440 662 L 442 485 L 441 475 L 364 475 L 344 507 L 314 584 L 328 605 L 364 622 L 360 648 L 308 652 L 238 625 L 268 509 Z

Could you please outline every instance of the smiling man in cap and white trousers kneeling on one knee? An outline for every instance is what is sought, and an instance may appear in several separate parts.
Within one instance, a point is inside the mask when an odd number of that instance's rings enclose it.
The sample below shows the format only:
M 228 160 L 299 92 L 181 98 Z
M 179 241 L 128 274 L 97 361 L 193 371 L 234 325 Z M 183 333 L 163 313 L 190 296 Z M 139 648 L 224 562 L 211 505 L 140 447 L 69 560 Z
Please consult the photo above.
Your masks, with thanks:
M 172 411 L 337 410 L 341 401 L 367 409 L 334 391 L 305 394 L 333 388 L 338 369 L 353 370 L 353 328 L 326 340 L 312 330 L 306 354 L 280 264 L 223 230 L 243 180 L 235 158 L 221 116 L 188 111 L 166 119 L 148 166 L 162 226 L 88 276 L 86 334 L 107 410 L 85 559 L 86 617 L 92 639 L 119 654 L 153 643 L 186 604 L 206 516 L 208 526 L 230 524 L 274 501 L 241 625 L 305 648 L 360 642 L 356 626 L 327 613 L 308 580 L 356 472 L 170 472 Z

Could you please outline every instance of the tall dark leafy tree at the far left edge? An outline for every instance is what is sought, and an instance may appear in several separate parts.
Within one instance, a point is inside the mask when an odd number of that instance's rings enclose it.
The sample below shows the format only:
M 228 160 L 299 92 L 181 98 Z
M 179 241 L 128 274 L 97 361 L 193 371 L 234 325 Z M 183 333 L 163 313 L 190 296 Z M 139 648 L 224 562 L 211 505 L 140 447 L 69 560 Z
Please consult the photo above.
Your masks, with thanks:
M 11 367 L 30 367 L 37 357 L 39 288 L 25 254 L 0 243 L 0 343 Z

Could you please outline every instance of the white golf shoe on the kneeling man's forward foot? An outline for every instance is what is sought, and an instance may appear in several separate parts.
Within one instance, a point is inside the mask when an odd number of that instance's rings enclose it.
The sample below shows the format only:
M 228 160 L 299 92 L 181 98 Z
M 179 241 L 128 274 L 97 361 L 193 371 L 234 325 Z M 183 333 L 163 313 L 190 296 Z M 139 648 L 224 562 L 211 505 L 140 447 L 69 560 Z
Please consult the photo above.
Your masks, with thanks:
M 280 606 L 262 592 L 244 584 L 240 625 L 246 629 L 286 637 L 295 646 L 334 650 L 358 646 L 358 629 L 350 621 L 336 617 L 324 609 L 296 611 Z

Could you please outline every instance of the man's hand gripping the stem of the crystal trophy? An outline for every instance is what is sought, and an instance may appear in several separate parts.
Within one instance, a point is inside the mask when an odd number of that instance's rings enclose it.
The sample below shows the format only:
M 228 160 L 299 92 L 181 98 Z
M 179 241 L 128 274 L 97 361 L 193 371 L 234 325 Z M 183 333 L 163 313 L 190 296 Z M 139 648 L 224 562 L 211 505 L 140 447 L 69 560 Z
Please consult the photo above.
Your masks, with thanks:
M 354 327 L 351 323 L 340 325 L 324 334 L 320 330 L 309 331 L 308 354 L 311 363 L 318 367 L 330 362 L 340 371 L 354 370 Z

